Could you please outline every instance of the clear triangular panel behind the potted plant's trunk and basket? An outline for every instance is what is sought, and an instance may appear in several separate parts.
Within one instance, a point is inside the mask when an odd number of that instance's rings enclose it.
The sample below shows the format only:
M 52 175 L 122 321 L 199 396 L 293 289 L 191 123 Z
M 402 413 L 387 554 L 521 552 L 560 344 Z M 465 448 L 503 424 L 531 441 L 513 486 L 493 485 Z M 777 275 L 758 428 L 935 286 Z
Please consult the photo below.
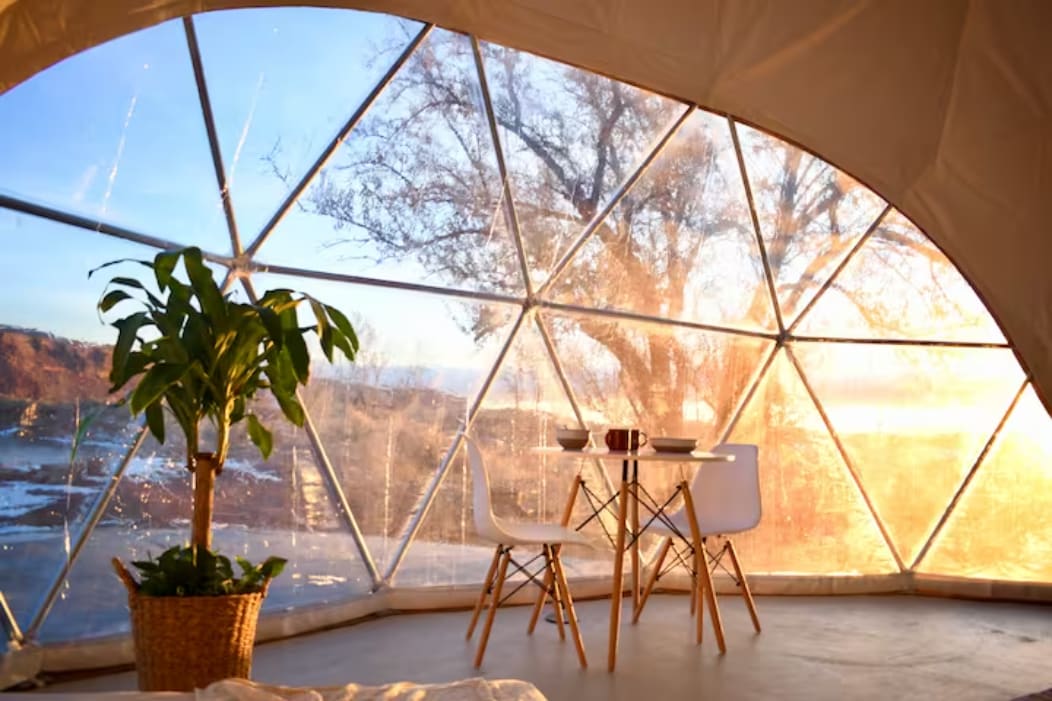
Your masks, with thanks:
M 235 426 L 223 472 L 216 478 L 213 548 L 251 562 L 270 555 L 288 559 L 270 582 L 264 610 L 366 594 L 372 581 L 329 498 L 305 433 L 280 419 L 272 400 L 259 400 L 251 409 L 274 430 L 274 454 L 264 461 L 244 424 Z M 207 434 L 203 447 L 214 444 Z M 110 558 L 132 568 L 134 560 L 189 541 L 191 480 L 185 442 L 170 419 L 166 435 L 163 445 L 148 437 L 128 466 L 44 621 L 42 641 L 126 632 L 126 600 Z

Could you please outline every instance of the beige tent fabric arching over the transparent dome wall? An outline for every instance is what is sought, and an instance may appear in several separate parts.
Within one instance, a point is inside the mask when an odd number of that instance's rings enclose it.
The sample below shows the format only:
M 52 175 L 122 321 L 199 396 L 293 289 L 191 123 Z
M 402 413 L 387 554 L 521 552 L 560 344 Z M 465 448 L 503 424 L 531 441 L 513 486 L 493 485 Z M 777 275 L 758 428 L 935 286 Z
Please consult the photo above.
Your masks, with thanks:
M 916 222 L 1052 407 L 1052 3 L 1044 0 L 0 0 L 0 91 L 182 15 L 322 4 L 433 21 L 735 115 Z

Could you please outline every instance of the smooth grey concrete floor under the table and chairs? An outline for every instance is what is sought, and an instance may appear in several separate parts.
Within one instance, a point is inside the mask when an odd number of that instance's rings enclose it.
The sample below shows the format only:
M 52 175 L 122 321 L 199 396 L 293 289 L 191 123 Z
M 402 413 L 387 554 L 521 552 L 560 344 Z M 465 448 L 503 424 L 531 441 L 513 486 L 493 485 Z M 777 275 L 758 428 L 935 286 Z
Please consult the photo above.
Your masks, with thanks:
M 990 699 L 1052 687 L 1052 606 L 910 596 L 761 597 L 753 635 L 737 597 L 721 597 L 728 650 L 711 628 L 690 640 L 688 600 L 655 596 L 624 622 L 606 670 L 608 601 L 579 604 L 590 666 L 555 626 L 525 635 L 529 609 L 501 609 L 481 673 L 465 642 L 468 612 L 408 614 L 261 645 L 254 678 L 287 685 L 447 681 L 482 675 L 534 683 L 551 701 L 666 699 Z M 630 609 L 625 607 L 626 613 Z M 624 619 L 623 619 L 624 620 Z M 477 634 L 478 636 L 478 634 Z M 135 688 L 133 673 L 45 692 Z

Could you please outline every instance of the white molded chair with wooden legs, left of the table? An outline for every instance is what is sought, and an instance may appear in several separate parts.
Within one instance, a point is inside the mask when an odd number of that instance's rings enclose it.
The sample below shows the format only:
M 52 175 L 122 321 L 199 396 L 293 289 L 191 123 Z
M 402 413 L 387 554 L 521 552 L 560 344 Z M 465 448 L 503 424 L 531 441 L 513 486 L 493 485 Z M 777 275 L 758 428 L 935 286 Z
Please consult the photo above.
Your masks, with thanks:
M 471 615 L 471 623 L 467 628 L 467 638 L 470 639 L 474 633 L 474 626 L 479 622 L 479 616 L 483 606 L 489 606 L 486 623 L 482 629 L 479 640 L 479 649 L 474 656 L 476 668 L 482 666 L 482 658 L 486 654 L 486 643 L 489 642 L 489 633 L 493 627 L 493 618 L 497 616 L 497 608 L 501 605 L 501 593 L 504 582 L 507 579 L 508 566 L 514 565 L 517 572 L 526 574 L 530 581 L 540 586 L 544 601 L 551 598 L 555 606 L 555 621 L 559 624 L 559 637 L 566 639 L 564 620 L 569 621 L 570 633 L 573 643 L 578 648 L 578 659 L 582 667 L 588 666 L 585 657 L 584 641 L 581 638 L 581 630 L 578 627 L 576 614 L 573 610 L 573 599 L 570 597 L 570 588 L 566 582 L 566 574 L 563 570 L 563 562 L 560 559 L 559 550 L 564 544 L 587 545 L 587 539 L 576 530 L 568 528 L 558 523 L 517 523 L 505 521 L 493 514 L 492 504 L 489 498 L 489 476 L 486 474 L 486 466 L 482 460 L 474 441 L 468 436 L 464 436 L 467 449 L 468 464 L 471 467 L 471 482 L 473 490 L 472 506 L 474 510 L 474 527 L 479 536 L 497 545 L 493 552 L 493 559 L 489 564 L 489 572 L 482 585 L 482 593 L 479 601 L 474 605 Z M 540 546 L 541 554 L 533 556 L 525 563 L 517 562 L 511 557 L 512 548 L 523 545 Z M 528 572 L 530 564 L 543 557 L 544 565 L 538 573 Z M 544 579 L 539 580 L 537 575 L 544 573 Z M 529 633 L 533 633 L 537 624 L 537 613 L 540 606 L 534 608 L 534 615 L 530 621 Z

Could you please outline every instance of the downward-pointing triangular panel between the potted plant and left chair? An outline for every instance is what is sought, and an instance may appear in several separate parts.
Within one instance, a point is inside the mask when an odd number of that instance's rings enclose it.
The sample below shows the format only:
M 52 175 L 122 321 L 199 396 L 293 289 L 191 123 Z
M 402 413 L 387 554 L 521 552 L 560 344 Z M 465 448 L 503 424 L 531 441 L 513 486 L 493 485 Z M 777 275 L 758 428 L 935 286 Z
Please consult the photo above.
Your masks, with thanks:
M 384 569 L 520 307 L 276 275 L 252 281 L 258 294 L 315 295 L 357 329 L 353 363 L 329 365 L 315 348 L 304 401 Z

